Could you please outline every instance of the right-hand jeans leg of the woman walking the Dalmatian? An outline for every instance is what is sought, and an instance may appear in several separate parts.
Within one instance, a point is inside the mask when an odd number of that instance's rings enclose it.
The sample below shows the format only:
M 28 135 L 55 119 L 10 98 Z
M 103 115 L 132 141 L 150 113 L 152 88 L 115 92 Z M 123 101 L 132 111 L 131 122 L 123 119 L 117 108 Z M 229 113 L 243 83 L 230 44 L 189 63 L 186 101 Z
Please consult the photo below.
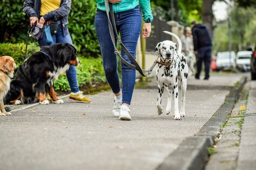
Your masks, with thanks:
M 120 30 L 121 40 L 127 50 L 135 58 L 137 41 L 141 31 L 141 13 L 139 8 L 117 13 L 117 27 Z M 127 62 L 132 63 L 129 57 L 121 51 L 122 57 Z M 122 103 L 130 105 L 132 100 L 136 71 L 130 69 L 127 65 L 121 62 L 122 66 Z

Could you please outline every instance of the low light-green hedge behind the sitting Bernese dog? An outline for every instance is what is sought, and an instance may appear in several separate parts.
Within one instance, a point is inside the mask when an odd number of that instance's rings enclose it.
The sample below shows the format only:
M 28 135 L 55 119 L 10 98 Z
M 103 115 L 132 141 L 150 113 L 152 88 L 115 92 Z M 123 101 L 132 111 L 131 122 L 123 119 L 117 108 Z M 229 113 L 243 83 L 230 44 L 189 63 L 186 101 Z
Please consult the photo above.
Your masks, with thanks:
M 28 51 L 35 52 L 40 48 L 36 43 L 28 46 Z M 25 44 L 0 44 L 0 56 L 11 56 L 14 58 L 17 66 L 21 65 L 26 58 L 25 56 Z M 106 83 L 106 77 L 104 76 L 104 70 L 102 66 L 102 58 L 83 58 L 79 57 L 80 64 L 76 67 L 77 80 L 80 87 L 88 86 L 92 84 Z M 61 75 L 58 80 L 55 81 L 55 90 L 69 91 L 70 87 L 65 74 Z

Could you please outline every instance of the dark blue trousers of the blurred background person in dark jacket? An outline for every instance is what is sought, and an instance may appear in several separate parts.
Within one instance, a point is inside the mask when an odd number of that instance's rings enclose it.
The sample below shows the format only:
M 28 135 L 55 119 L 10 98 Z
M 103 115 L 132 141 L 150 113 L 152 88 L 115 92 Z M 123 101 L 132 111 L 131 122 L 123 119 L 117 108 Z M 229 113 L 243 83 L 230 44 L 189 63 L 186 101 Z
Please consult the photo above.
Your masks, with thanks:
M 197 72 L 195 77 L 200 77 L 200 72 L 202 69 L 202 62 L 205 63 L 205 78 L 209 78 L 210 66 L 211 66 L 211 56 L 212 56 L 212 46 L 204 46 L 198 49 L 198 55 L 196 56 L 196 69 Z

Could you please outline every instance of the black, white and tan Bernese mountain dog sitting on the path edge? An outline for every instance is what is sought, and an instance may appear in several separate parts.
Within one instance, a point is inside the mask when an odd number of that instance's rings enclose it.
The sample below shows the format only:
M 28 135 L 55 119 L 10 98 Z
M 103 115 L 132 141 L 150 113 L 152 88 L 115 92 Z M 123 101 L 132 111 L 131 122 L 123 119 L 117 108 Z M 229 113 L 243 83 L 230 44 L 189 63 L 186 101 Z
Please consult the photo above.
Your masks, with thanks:
M 11 81 L 10 91 L 5 97 L 6 104 L 49 104 L 46 96 L 50 94 L 54 103 L 61 104 L 54 90 L 54 79 L 77 66 L 76 49 L 68 43 L 43 46 L 18 67 L 16 77 Z

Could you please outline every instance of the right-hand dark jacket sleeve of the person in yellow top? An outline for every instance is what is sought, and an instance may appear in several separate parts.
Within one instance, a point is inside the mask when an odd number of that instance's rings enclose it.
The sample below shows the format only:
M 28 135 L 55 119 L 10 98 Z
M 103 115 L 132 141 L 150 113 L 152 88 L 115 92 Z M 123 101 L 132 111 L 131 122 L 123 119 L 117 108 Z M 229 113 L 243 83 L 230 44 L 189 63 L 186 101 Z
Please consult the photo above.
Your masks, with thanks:
M 45 21 L 49 21 L 50 19 L 59 19 L 64 16 L 68 16 L 71 10 L 71 0 L 63 0 L 60 8 L 50 11 L 43 15 Z

